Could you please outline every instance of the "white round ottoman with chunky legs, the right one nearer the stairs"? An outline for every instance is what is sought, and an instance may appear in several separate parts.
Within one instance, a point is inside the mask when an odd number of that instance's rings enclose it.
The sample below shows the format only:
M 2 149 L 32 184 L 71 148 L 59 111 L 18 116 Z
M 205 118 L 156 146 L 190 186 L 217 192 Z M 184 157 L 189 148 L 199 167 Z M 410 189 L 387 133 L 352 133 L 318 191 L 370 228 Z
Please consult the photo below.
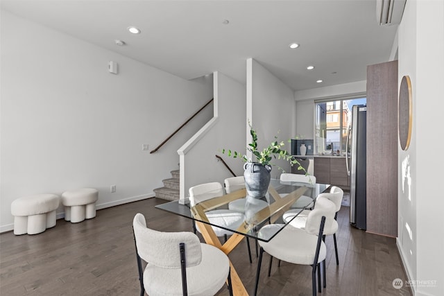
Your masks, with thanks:
M 65 207 L 65 220 L 71 223 L 82 222 L 96 216 L 96 201 L 99 191 L 92 188 L 80 188 L 62 193 L 62 204 Z

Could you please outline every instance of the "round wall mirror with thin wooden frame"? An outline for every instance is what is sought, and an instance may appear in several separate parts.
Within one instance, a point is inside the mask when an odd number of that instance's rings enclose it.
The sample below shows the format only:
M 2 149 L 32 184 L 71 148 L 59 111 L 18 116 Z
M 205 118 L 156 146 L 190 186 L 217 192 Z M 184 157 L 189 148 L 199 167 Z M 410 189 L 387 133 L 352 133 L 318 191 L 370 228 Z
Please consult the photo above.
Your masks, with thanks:
M 410 145 L 412 107 L 410 77 L 404 76 L 401 80 L 400 98 L 398 100 L 398 128 L 402 150 L 407 150 Z

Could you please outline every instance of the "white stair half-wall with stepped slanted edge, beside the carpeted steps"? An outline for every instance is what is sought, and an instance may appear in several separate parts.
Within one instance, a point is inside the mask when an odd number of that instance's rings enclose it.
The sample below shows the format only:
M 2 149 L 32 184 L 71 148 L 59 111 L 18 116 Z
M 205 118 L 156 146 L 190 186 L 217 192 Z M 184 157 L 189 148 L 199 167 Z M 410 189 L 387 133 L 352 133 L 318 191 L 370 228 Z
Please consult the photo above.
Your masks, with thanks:
M 222 149 L 245 151 L 246 101 L 245 86 L 236 80 L 215 72 L 214 76 L 214 118 L 195 136 L 182 146 L 178 153 L 181 166 L 181 197 L 187 198 L 191 186 L 207 182 L 221 182 L 232 177 L 219 155 L 236 175 L 243 175 L 240 159 L 222 154 Z

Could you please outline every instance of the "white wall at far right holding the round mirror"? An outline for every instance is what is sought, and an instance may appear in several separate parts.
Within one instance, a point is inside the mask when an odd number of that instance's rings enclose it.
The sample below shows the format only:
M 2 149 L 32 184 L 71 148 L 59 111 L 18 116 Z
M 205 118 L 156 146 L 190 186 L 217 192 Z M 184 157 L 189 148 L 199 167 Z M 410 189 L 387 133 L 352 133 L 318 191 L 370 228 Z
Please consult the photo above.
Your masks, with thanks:
M 397 243 L 409 279 L 421 281 L 415 295 L 443 295 L 444 164 L 436 139 L 444 110 L 444 2 L 407 1 L 398 38 L 398 81 L 411 78 L 413 130 L 409 148 L 399 149 Z

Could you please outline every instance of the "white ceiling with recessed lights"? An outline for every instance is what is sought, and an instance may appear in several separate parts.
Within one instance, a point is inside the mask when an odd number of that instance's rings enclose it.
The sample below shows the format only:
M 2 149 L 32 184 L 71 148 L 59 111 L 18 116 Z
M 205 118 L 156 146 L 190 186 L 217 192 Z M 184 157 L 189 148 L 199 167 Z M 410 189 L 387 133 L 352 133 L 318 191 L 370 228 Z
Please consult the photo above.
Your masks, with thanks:
M 220 71 L 245 83 L 253 58 L 294 90 L 366 80 L 367 65 L 389 60 L 398 27 L 377 24 L 375 0 L 2 0 L 1 7 L 185 79 Z M 289 49 L 292 42 L 300 47 Z

